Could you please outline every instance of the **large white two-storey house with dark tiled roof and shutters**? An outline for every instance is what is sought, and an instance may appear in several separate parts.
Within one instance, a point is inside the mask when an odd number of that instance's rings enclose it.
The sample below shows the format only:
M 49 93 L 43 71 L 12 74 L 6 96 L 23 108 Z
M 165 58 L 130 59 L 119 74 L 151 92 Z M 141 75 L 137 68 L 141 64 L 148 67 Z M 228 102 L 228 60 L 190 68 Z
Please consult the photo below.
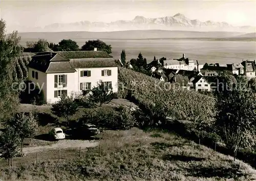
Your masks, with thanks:
M 39 53 L 32 57 L 28 72 L 29 80 L 41 88 L 48 104 L 62 94 L 70 96 L 96 87 L 100 80 L 112 86 L 113 92 L 118 90 L 117 64 L 101 51 Z

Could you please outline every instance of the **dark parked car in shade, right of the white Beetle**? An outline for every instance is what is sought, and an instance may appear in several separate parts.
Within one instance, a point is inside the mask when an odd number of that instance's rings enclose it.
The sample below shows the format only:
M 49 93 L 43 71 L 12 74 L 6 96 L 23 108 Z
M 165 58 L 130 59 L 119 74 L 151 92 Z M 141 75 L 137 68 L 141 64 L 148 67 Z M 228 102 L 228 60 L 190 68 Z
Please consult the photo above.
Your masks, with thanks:
M 94 124 L 83 124 L 75 130 L 75 134 L 79 138 L 89 138 L 99 133 L 99 129 Z

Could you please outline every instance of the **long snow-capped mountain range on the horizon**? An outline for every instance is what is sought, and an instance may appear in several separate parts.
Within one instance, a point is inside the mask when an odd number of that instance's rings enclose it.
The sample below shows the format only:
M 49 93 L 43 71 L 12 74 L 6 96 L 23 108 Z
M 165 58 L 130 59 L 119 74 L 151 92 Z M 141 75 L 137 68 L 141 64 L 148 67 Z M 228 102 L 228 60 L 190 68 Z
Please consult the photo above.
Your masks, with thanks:
M 67 32 L 67 31 L 90 31 L 109 32 L 125 30 L 182 30 L 182 31 L 236 31 L 255 32 L 255 27 L 234 27 L 227 22 L 214 22 L 211 20 L 202 22 L 198 19 L 189 19 L 183 14 L 174 16 L 146 18 L 136 16 L 133 20 L 117 20 L 110 23 L 79 21 L 67 24 L 51 24 L 44 28 L 30 29 L 33 32 Z M 24 31 L 23 31 L 24 32 Z M 27 31 L 28 32 L 28 31 Z

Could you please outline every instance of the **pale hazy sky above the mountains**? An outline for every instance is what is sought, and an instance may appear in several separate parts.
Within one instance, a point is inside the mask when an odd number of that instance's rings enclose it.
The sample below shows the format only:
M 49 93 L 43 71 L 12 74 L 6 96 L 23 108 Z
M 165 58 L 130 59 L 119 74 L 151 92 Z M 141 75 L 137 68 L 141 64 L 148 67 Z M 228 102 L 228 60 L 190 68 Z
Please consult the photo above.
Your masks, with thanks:
M 136 15 L 173 16 L 226 21 L 234 26 L 256 26 L 256 0 L 248 1 L 6 1 L 0 0 L 0 18 L 8 29 L 44 27 L 55 22 L 82 20 L 111 22 L 132 20 Z

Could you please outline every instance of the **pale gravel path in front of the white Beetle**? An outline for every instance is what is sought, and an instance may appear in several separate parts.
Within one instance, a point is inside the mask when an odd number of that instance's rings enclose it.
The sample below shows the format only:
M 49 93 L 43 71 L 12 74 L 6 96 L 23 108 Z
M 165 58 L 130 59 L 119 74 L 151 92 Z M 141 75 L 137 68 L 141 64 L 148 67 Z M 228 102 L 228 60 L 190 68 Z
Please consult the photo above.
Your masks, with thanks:
M 34 153 L 40 152 L 49 149 L 65 149 L 65 148 L 87 148 L 87 147 L 95 147 L 98 145 L 97 141 L 89 141 L 89 140 L 59 140 L 57 143 L 47 146 L 33 146 L 23 148 L 23 153 Z

